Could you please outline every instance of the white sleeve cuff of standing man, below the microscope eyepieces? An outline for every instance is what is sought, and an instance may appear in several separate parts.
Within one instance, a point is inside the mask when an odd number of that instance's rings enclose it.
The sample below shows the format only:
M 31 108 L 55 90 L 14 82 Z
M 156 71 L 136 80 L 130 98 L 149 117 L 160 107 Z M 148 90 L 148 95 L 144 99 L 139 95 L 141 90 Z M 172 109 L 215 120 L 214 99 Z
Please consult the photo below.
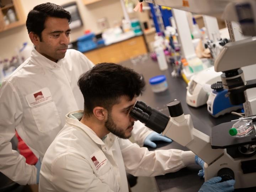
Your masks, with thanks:
M 132 135 L 135 142 L 138 143 L 139 146 L 144 145 L 144 140 L 152 132 L 154 131 L 146 127 L 142 122 L 135 121 L 133 130 L 132 130 Z

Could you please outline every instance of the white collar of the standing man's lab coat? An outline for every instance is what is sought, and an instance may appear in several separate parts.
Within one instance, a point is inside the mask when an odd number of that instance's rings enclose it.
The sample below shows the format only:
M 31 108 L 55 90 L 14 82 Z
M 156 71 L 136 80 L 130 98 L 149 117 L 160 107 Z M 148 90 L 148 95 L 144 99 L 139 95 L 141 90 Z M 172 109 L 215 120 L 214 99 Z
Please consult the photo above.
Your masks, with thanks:
M 49 69 L 60 68 L 63 62 L 63 59 L 59 59 L 58 62 L 55 63 L 52 60 L 44 57 L 35 48 L 33 48 L 31 52 L 31 60 L 33 61 L 33 63 L 36 63 L 38 65 L 41 65 L 44 68 L 49 68 Z

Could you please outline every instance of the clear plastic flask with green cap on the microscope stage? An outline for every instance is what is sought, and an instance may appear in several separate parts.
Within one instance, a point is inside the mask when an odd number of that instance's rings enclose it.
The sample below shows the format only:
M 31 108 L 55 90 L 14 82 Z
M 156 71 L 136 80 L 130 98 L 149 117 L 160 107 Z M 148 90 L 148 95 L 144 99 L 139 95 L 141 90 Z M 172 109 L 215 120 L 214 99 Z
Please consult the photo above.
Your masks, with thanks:
M 231 129 L 229 129 L 229 134 L 233 137 L 246 137 L 254 133 L 255 128 L 251 119 L 241 119 L 236 122 Z

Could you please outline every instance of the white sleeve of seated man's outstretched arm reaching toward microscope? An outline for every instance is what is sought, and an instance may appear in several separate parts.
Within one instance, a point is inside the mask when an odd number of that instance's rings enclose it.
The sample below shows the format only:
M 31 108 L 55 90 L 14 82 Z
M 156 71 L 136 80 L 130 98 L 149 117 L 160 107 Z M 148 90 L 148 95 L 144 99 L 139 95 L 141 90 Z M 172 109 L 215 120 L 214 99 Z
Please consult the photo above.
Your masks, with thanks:
M 131 143 L 128 139 L 118 139 L 126 171 L 134 176 L 156 176 L 175 172 L 195 163 L 192 151 L 178 149 L 149 151 Z

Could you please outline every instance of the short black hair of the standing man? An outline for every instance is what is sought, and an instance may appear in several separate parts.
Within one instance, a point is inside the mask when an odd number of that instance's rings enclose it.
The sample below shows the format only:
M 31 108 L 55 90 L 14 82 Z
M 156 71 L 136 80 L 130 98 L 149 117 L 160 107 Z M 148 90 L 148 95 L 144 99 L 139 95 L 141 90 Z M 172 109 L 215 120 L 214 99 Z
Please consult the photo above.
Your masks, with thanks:
M 59 5 L 47 2 L 35 6 L 28 13 L 26 26 L 28 33 L 31 31 L 36 33 L 39 36 L 40 41 L 42 41 L 41 33 L 45 28 L 44 23 L 47 17 L 66 18 L 69 23 L 71 22 L 70 13 Z

